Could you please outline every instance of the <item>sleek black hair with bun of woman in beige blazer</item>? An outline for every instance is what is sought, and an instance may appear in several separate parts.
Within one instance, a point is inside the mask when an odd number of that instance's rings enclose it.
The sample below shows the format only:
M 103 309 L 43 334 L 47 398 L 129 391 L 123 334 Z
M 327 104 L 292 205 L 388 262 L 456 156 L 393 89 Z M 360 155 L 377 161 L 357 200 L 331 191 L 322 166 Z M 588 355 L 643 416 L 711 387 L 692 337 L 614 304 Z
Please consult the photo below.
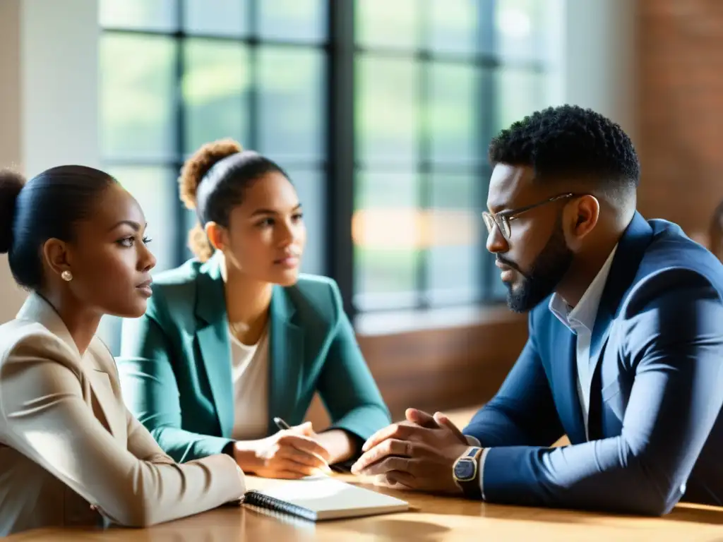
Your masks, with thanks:
M 50 238 L 72 241 L 74 224 L 88 218 L 95 199 L 116 180 L 83 165 L 61 165 L 25 182 L 0 172 L 0 253 L 8 253 L 17 283 L 43 285 L 42 247 Z

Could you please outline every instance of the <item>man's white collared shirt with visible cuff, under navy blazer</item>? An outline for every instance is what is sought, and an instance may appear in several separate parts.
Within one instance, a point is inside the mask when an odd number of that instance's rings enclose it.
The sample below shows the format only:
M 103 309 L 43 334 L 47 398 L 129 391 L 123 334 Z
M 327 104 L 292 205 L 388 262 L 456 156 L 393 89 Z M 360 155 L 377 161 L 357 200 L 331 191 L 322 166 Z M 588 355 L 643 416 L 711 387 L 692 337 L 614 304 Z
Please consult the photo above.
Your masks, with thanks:
M 588 434 L 588 413 L 590 410 L 590 381 L 594 367 L 591 365 L 590 359 L 590 341 L 592 339 L 592 330 L 595 327 L 595 319 L 600 306 L 600 298 L 607 283 L 607 276 L 610 274 L 612 267 L 612 259 L 615 257 L 617 244 L 610 252 L 609 256 L 602 264 L 595 278 L 588 286 L 580 301 L 575 307 L 571 307 L 557 293 L 552 294 L 549 300 L 549 310 L 555 314 L 560 322 L 565 324 L 570 331 L 578 336 L 576 348 L 576 362 L 578 367 L 578 397 L 583 412 L 583 421 L 585 423 L 585 436 Z M 471 446 L 479 446 L 479 440 L 474 436 L 466 435 L 467 441 Z M 482 489 L 482 499 L 484 499 L 484 460 L 487 459 L 489 448 L 482 451 L 482 457 L 479 458 L 479 487 Z

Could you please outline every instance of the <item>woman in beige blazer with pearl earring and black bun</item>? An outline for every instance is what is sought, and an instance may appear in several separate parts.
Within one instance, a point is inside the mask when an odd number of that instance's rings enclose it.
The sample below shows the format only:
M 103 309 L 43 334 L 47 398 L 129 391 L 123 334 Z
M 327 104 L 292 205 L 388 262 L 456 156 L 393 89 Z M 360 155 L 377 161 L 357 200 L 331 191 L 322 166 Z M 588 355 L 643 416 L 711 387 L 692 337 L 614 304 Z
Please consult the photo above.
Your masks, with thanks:
M 0 535 L 146 526 L 238 501 L 226 455 L 176 465 L 129 413 L 95 332 L 137 318 L 155 265 L 139 205 L 107 173 L 0 173 L 0 252 L 30 294 L 0 326 Z

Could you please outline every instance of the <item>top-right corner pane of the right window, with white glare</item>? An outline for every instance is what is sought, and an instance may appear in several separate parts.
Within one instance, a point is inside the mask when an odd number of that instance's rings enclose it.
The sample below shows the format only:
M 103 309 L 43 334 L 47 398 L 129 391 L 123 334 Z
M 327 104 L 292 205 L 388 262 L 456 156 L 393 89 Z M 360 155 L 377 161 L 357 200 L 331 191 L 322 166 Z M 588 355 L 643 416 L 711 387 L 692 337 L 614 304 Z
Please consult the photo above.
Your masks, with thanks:
M 505 59 L 543 59 L 546 27 L 543 0 L 497 0 L 496 50 Z M 549 8 L 549 7 L 548 7 Z

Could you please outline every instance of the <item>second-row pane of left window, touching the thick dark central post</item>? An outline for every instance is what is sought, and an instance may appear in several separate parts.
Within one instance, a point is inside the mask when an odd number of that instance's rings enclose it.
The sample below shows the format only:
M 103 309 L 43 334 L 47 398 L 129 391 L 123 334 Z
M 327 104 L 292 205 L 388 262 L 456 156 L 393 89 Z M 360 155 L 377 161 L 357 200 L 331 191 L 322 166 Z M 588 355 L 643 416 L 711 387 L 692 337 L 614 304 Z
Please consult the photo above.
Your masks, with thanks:
M 261 152 L 282 162 L 322 157 L 323 60 L 315 49 L 260 49 Z

